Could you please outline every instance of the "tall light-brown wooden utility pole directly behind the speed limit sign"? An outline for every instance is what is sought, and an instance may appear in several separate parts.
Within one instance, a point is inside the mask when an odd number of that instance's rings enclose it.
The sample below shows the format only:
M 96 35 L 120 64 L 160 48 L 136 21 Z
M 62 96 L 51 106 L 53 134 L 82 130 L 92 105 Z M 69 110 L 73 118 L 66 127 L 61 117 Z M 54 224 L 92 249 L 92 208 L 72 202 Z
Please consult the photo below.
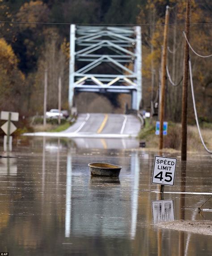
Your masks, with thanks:
M 167 56 L 167 33 L 169 23 L 169 6 L 165 10 L 165 26 L 163 38 L 163 51 L 162 51 L 162 65 L 161 65 L 161 97 L 160 97 L 160 132 L 159 132 L 159 149 L 163 149 L 163 121 L 164 121 L 164 103 L 165 103 L 165 65 Z

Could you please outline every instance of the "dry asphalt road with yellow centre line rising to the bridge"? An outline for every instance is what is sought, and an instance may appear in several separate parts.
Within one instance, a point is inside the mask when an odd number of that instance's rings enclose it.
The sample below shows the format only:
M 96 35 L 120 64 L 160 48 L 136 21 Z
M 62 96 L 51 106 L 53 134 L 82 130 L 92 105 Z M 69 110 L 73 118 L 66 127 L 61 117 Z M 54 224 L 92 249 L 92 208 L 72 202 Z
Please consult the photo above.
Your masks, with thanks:
M 87 113 L 80 114 L 76 123 L 63 133 L 136 136 L 139 131 L 140 121 L 134 115 Z

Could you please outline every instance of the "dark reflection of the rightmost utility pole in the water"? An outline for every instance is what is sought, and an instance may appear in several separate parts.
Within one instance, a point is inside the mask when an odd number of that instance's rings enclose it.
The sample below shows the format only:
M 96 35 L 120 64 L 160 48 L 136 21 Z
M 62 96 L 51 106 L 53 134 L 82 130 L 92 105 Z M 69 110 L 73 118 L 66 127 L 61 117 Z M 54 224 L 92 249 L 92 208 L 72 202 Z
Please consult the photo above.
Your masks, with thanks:
M 181 162 L 181 179 L 180 179 L 181 192 L 186 192 L 186 162 Z M 185 194 L 180 194 L 179 203 L 179 218 L 185 220 Z M 179 256 L 184 255 L 184 232 L 179 232 Z

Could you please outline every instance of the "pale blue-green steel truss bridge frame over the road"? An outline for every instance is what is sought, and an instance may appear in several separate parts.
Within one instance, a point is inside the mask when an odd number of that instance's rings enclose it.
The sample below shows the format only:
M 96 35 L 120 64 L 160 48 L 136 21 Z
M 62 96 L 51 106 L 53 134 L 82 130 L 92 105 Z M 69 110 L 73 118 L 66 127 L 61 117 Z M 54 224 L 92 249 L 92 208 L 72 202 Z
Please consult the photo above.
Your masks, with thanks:
M 131 108 L 139 110 L 141 62 L 140 26 L 71 25 L 69 107 L 74 92 L 110 92 L 131 94 Z

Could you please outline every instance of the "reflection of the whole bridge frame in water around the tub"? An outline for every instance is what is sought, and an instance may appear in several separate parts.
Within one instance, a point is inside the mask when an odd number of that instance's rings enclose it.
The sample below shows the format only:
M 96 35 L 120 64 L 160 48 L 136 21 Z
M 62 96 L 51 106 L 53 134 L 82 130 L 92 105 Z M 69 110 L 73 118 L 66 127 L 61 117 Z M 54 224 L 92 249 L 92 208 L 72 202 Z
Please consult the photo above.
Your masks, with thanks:
M 128 218 L 129 212 L 123 208 L 120 201 L 123 193 L 120 192 L 120 180 L 117 177 L 84 177 L 83 182 L 90 179 L 90 192 L 80 196 L 76 189 L 82 186 L 81 174 L 74 179 L 72 184 L 72 155 L 68 150 L 67 175 L 66 175 L 66 213 L 65 213 L 65 237 L 70 234 L 95 235 L 102 230 L 102 235 L 127 235 L 130 230 L 131 239 L 136 235 L 137 211 L 138 211 L 138 189 L 139 189 L 139 157 L 138 153 L 131 154 L 130 173 L 133 177 L 131 184 L 131 226 L 130 229 L 122 220 Z M 87 168 L 88 169 L 88 168 Z M 89 177 L 89 178 L 88 178 Z M 87 186 L 84 183 L 84 186 Z M 113 190 L 116 190 L 115 195 Z M 90 201 L 92 200 L 92 201 Z M 92 205 L 92 206 L 91 206 Z M 80 217 L 83 215 L 83 218 Z M 117 222 L 119 220 L 119 222 Z M 72 230 L 71 230 L 71 223 Z M 92 224 L 92 225 L 91 225 Z M 115 229 L 114 229 L 115 227 Z

